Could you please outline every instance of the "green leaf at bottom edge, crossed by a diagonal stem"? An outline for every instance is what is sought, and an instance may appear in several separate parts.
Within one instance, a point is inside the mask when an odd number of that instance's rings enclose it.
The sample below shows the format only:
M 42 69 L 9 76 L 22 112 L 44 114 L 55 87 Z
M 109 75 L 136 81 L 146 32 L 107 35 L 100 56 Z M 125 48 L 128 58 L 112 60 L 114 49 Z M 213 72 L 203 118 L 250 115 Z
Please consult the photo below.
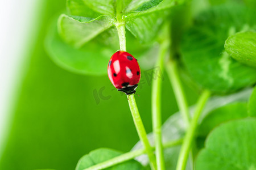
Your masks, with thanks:
M 121 155 L 122 152 L 115 151 L 109 148 L 98 148 L 97 150 L 91 151 L 88 155 L 82 156 L 82 158 L 79 160 L 79 163 L 77 163 L 76 170 L 84 170 L 85 168 L 92 167 L 93 165 L 96 165 L 98 163 L 105 162 L 106 160 L 112 159 L 116 156 Z M 128 162 L 124 162 L 118 165 L 115 165 L 114 167 L 110 167 L 107 169 L 111 170 L 139 170 L 144 169 L 144 167 L 138 163 L 135 160 L 130 160 Z

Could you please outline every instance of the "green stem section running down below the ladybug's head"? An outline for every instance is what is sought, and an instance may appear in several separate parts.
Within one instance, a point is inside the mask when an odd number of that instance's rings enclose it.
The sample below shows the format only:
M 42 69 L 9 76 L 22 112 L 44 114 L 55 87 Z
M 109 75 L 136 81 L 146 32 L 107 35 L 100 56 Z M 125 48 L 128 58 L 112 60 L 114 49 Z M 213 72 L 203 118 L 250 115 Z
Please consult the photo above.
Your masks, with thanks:
M 146 130 L 144 129 L 144 125 L 141 120 L 141 116 L 139 115 L 139 111 L 137 108 L 134 94 L 129 95 L 127 97 L 128 97 L 131 115 L 133 116 L 133 121 L 134 121 L 135 127 L 137 129 L 139 139 L 141 140 L 142 145 L 144 146 L 144 149 L 147 152 L 148 159 L 150 160 L 151 168 L 156 169 L 156 160 L 155 160 L 154 150 L 152 149 L 152 147 L 150 146 L 150 143 L 148 142 L 147 133 L 146 133 Z

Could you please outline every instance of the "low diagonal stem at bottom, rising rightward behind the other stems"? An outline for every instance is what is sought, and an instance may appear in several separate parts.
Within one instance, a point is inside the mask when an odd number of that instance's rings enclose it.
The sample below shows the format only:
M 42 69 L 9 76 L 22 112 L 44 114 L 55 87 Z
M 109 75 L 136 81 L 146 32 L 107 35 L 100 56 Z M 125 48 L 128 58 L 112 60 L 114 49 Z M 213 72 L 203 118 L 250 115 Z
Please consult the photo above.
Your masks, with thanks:
M 178 139 L 176 141 L 167 142 L 167 143 L 164 144 L 164 148 L 181 145 L 182 141 L 183 141 L 182 139 Z M 137 156 L 143 155 L 145 153 L 146 153 L 145 149 L 140 149 L 140 150 L 136 150 L 136 151 L 127 152 L 127 153 L 122 154 L 120 156 L 117 156 L 115 158 L 109 159 L 105 162 L 93 165 L 92 167 L 86 168 L 84 170 L 99 170 L 99 169 L 105 169 L 105 168 L 113 167 L 114 165 L 117 165 L 119 163 L 126 162 L 128 160 L 134 159 Z

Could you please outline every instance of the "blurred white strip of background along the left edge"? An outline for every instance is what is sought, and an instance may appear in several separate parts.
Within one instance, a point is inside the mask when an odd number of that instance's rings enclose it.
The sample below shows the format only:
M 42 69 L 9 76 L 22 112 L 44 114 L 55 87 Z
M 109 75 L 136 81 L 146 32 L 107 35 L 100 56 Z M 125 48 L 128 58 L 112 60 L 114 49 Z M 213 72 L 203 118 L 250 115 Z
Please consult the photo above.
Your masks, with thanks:
M 31 41 L 31 20 L 40 0 L 0 0 L 0 154 L 9 130 L 25 52 Z M 24 49 L 26 48 L 26 49 Z M 1 156 L 1 155 L 0 155 Z

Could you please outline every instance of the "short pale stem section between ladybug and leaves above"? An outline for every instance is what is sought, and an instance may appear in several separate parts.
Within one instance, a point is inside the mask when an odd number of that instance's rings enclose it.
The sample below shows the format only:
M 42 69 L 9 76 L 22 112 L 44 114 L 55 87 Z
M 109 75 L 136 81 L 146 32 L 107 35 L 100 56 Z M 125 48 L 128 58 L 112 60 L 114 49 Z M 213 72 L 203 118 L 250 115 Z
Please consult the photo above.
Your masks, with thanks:
M 126 37 L 125 37 L 125 22 L 123 20 L 118 21 L 115 24 L 119 36 L 120 50 L 126 52 Z

